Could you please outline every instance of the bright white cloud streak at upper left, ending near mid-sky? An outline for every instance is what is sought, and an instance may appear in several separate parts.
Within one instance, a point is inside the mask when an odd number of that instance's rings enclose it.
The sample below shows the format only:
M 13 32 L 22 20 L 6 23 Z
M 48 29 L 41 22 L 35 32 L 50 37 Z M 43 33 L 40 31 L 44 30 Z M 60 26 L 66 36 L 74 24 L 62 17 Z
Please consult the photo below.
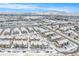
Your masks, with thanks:
M 0 8 L 10 8 L 10 9 L 36 9 L 35 5 L 23 5 L 23 4 L 0 4 Z

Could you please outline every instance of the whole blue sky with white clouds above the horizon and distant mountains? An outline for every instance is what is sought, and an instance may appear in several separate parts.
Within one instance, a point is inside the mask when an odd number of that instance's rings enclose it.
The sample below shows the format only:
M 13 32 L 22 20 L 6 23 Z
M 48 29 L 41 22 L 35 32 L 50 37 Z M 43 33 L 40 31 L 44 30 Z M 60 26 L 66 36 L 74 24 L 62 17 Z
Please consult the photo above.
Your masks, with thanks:
M 79 13 L 78 3 L 0 3 L 0 12 L 48 12 L 51 10 Z

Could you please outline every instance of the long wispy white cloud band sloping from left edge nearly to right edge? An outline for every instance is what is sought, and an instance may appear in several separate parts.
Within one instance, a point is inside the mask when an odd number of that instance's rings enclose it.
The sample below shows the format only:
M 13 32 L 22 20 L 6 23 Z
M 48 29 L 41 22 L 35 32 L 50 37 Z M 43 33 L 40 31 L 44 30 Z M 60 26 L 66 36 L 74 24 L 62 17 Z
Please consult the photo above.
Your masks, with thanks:
M 24 9 L 24 10 L 57 10 L 57 11 L 65 11 L 65 12 L 72 12 L 72 9 L 69 7 L 44 7 L 40 5 L 33 5 L 33 4 L 16 4 L 16 3 L 0 3 L 0 8 L 9 8 L 9 9 Z

